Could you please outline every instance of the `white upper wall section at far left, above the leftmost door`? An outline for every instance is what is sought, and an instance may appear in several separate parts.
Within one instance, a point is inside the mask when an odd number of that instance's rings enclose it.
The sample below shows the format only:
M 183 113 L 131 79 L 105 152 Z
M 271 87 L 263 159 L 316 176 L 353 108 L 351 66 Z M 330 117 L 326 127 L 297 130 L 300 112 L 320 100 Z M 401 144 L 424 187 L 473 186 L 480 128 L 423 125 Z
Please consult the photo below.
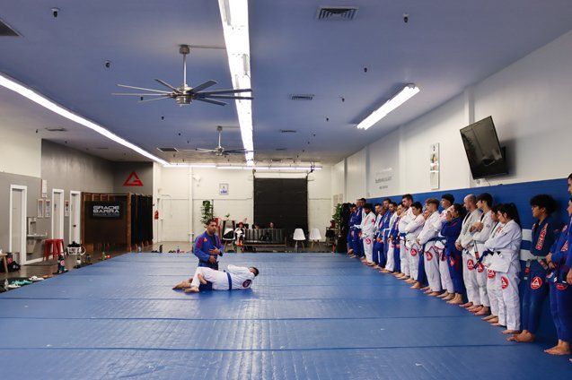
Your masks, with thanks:
M 41 138 L 19 125 L 0 120 L 0 172 L 40 177 Z

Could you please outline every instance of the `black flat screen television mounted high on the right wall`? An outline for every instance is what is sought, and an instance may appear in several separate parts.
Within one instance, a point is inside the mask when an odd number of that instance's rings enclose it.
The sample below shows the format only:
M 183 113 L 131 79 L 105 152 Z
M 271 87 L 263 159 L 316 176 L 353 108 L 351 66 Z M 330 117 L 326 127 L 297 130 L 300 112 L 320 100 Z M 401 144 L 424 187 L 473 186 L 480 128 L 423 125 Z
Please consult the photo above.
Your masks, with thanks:
M 506 154 L 498 142 L 492 117 L 486 117 L 461 130 L 472 177 L 475 179 L 508 174 Z

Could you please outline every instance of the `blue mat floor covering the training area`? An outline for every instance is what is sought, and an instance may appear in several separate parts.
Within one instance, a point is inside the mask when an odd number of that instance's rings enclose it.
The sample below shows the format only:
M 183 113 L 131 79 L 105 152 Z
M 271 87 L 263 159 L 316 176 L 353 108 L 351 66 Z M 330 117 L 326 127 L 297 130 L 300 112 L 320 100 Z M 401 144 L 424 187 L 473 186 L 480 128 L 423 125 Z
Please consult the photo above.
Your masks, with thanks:
M 224 255 L 251 290 L 184 294 L 191 255 L 128 254 L 0 295 L 0 378 L 568 378 L 549 343 L 331 254 Z

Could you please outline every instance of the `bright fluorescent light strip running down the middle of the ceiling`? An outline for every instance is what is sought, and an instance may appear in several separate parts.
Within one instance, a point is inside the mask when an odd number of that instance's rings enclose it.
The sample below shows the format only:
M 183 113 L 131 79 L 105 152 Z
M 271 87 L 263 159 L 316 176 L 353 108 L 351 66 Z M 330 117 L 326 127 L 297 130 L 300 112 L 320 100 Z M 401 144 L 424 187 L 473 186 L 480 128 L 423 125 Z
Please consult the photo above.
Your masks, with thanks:
M 234 89 L 251 88 L 251 45 L 249 41 L 248 0 L 218 0 L 223 22 L 224 44 Z M 254 165 L 251 100 L 236 99 L 242 145 L 247 166 Z

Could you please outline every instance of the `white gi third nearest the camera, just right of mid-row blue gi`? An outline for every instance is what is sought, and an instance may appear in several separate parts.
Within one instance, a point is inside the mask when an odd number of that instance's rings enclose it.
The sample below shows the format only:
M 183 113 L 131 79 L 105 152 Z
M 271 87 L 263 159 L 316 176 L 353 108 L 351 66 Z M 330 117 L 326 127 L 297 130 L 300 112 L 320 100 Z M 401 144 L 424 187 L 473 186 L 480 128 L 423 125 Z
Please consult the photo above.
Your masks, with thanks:
M 465 283 L 467 289 L 467 298 L 473 305 L 480 305 L 479 297 L 479 284 L 477 284 L 477 276 L 475 275 L 474 267 L 477 260 L 475 259 L 473 248 L 474 242 L 472 241 L 472 234 L 469 232 L 471 226 L 480 220 L 479 209 L 467 214 L 465 219 L 462 220 L 461 235 L 457 238 L 457 243 L 462 246 L 462 281 Z

